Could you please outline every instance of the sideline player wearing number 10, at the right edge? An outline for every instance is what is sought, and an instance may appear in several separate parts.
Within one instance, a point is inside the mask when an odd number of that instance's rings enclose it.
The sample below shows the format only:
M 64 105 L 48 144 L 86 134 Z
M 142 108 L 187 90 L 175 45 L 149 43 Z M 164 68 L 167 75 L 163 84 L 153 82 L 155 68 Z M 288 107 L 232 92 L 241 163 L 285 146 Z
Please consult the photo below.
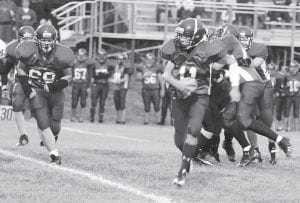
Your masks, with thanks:
M 289 74 L 286 78 L 287 97 L 284 109 L 284 123 L 286 131 L 291 131 L 289 117 L 291 107 L 293 106 L 293 116 L 295 119 L 295 128 L 299 128 L 299 106 L 300 106 L 300 72 L 299 63 L 292 61 L 289 66 Z

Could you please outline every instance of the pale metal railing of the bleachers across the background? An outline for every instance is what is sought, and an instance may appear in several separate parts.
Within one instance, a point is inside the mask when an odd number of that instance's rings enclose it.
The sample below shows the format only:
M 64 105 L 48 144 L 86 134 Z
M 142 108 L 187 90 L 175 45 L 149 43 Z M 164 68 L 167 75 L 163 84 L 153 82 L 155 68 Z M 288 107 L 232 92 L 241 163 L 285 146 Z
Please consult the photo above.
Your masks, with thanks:
M 108 4 L 113 8 L 105 9 Z M 172 37 L 180 20 L 175 16 L 177 6 L 173 0 L 95 0 L 70 2 L 52 13 L 59 19 L 61 30 L 97 37 L 101 47 L 102 38 L 166 40 Z M 158 7 L 163 8 L 160 19 L 157 19 Z M 240 18 L 246 17 L 250 19 L 247 23 L 254 31 L 255 40 L 270 46 L 290 46 L 292 57 L 294 47 L 300 47 L 300 7 L 295 5 L 195 1 L 194 8 L 199 10 L 194 17 L 207 26 L 222 24 L 224 13 L 228 16 L 226 22 L 236 24 L 241 24 Z M 268 20 L 272 12 L 279 16 L 288 13 L 290 18 L 287 22 L 277 21 L 280 18 Z M 92 42 L 90 45 L 93 46 Z

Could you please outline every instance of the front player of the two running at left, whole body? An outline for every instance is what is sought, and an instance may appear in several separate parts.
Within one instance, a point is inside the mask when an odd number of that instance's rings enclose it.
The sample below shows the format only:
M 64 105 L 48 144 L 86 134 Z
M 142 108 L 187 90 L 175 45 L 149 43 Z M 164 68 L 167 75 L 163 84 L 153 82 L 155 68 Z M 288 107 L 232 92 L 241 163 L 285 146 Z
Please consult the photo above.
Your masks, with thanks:
M 40 25 L 35 41 L 24 41 L 16 48 L 19 59 L 15 92 L 23 95 L 34 112 L 50 162 L 61 164 L 55 136 L 61 129 L 64 109 L 64 88 L 71 81 L 75 57 L 73 51 L 56 42 L 52 25 Z

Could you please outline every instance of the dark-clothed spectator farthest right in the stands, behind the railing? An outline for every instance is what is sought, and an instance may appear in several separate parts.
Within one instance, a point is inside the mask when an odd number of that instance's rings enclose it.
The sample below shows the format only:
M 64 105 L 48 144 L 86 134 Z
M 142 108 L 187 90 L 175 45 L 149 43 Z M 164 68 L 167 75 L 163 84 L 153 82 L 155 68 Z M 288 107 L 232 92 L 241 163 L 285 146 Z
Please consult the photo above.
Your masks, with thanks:
M 289 6 L 291 0 L 273 0 L 273 3 L 279 6 Z M 288 12 L 271 11 L 268 13 L 268 17 L 270 21 L 290 22 L 290 14 Z

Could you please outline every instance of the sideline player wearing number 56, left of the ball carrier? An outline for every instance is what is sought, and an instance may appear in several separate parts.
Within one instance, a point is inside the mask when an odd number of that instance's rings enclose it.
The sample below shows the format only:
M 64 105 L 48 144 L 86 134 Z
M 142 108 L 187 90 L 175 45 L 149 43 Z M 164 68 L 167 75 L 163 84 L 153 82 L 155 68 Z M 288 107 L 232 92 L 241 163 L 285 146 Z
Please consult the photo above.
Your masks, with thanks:
M 164 91 L 161 78 L 162 67 L 152 53 L 147 53 L 137 68 L 137 79 L 142 81 L 142 97 L 144 103 L 144 124 L 149 123 L 151 103 L 153 103 L 156 122 L 159 123 L 160 97 Z

